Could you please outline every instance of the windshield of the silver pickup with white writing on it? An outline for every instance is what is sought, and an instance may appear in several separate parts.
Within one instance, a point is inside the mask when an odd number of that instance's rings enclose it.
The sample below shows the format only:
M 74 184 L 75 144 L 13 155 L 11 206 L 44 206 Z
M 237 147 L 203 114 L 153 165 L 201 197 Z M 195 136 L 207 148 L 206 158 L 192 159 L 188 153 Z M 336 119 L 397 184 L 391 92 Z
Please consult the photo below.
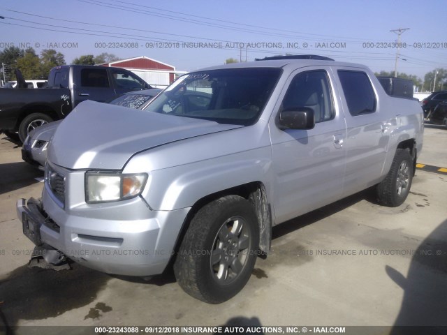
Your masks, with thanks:
M 279 79 L 279 68 L 226 68 L 180 77 L 147 110 L 220 124 L 254 124 Z

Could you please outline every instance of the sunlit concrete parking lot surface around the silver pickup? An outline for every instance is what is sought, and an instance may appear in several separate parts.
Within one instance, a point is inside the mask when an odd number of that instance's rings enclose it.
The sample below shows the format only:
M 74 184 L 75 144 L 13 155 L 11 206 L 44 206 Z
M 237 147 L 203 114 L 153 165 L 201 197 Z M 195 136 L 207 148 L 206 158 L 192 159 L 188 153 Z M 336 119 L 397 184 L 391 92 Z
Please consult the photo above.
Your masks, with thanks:
M 447 131 L 427 126 L 419 163 L 447 168 Z M 397 208 L 364 191 L 273 229 L 236 297 L 209 305 L 172 271 L 150 281 L 30 268 L 15 203 L 39 198 L 43 172 L 0 135 L 0 326 L 447 325 L 447 175 L 416 171 Z

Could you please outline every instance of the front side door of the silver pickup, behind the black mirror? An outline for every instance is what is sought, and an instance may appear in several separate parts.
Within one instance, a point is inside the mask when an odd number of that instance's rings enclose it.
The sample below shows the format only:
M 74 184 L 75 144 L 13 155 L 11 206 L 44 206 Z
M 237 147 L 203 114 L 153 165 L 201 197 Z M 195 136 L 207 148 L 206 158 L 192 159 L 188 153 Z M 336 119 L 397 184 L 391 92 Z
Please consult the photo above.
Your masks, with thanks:
M 295 70 L 270 119 L 276 223 L 338 200 L 343 192 L 346 126 L 329 67 Z M 314 110 L 315 127 L 281 130 L 281 110 Z

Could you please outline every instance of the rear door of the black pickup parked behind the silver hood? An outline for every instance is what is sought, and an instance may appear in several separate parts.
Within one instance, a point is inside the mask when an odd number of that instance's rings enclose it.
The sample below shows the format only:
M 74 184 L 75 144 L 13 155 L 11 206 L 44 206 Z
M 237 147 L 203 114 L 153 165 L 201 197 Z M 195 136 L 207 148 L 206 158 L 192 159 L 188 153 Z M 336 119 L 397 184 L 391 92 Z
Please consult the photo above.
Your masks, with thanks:
M 75 69 L 78 72 L 73 87 L 75 105 L 85 100 L 103 103 L 115 97 L 115 90 L 110 83 L 107 68 L 98 66 L 97 68 L 76 67 Z

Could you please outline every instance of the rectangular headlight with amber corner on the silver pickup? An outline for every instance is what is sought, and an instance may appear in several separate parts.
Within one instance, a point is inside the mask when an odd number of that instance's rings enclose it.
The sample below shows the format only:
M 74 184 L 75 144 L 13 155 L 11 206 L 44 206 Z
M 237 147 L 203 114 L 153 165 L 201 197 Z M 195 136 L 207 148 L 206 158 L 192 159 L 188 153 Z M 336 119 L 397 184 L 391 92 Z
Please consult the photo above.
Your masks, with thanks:
M 147 174 L 122 174 L 119 172 L 87 172 L 85 174 L 85 200 L 110 202 L 134 198 L 141 194 Z

